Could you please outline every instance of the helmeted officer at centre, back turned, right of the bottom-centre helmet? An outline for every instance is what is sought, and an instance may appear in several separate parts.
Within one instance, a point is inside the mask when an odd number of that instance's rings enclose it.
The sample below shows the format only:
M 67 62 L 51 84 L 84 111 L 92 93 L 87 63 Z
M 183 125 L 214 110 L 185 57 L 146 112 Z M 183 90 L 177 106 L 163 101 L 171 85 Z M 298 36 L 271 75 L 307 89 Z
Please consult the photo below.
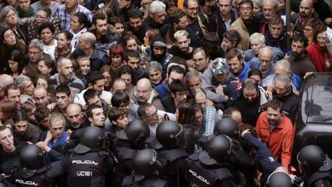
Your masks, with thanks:
M 156 140 L 151 148 L 156 150 L 160 161 L 155 177 L 167 181 L 169 186 L 185 186 L 184 173 L 187 168 L 187 152 L 183 149 L 187 140 L 183 127 L 176 121 L 163 121 L 156 129 Z

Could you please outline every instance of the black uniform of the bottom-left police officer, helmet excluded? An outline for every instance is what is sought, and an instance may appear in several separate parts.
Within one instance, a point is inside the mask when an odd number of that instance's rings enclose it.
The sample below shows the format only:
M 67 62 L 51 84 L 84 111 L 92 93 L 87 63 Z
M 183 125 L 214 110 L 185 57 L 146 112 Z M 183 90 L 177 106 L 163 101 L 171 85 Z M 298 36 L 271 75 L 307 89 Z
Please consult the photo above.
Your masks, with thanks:
M 17 163 L 17 168 L 12 170 L 10 174 L 10 183 L 16 186 L 53 186 L 55 184 L 55 177 L 64 174 L 64 160 L 65 157 L 55 150 L 50 150 L 48 155 L 54 161 L 48 166 L 43 166 L 37 170 L 29 170 L 21 167 Z

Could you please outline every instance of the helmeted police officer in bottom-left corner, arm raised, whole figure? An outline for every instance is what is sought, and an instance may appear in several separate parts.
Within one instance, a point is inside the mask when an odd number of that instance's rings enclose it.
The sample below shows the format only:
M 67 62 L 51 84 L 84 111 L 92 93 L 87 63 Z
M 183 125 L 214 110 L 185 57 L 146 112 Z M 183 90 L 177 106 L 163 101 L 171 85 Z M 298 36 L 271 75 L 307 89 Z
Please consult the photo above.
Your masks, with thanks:
M 53 186 L 55 177 L 64 173 L 65 157 L 50 148 L 47 152 L 53 161 L 50 166 L 46 166 L 44 152 L 37 145 L 23 148 L 17 168 L 11 172 L 10 182 L 16 186 Z

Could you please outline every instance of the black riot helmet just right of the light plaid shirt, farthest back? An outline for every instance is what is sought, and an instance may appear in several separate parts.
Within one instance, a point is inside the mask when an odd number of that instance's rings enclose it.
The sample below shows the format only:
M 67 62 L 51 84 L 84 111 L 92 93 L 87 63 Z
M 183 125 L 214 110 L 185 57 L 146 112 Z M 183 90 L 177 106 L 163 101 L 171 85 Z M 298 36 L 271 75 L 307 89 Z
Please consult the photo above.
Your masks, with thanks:
M 214 134 L 223 134 L 234 139 L 239 134 L 239 125 L 232 118 L 222 118 L 216 123 Z

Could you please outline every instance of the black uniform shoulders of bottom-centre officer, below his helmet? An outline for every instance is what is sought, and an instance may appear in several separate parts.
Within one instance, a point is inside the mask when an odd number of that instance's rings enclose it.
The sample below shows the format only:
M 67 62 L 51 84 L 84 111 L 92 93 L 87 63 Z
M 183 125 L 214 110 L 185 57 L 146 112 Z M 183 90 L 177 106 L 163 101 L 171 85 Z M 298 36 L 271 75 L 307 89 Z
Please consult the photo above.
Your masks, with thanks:
M 167 182 L 162 179 L 144 178 L 134 181 L 133 176 L 124 177 L 121 187 L 165 187 Z

